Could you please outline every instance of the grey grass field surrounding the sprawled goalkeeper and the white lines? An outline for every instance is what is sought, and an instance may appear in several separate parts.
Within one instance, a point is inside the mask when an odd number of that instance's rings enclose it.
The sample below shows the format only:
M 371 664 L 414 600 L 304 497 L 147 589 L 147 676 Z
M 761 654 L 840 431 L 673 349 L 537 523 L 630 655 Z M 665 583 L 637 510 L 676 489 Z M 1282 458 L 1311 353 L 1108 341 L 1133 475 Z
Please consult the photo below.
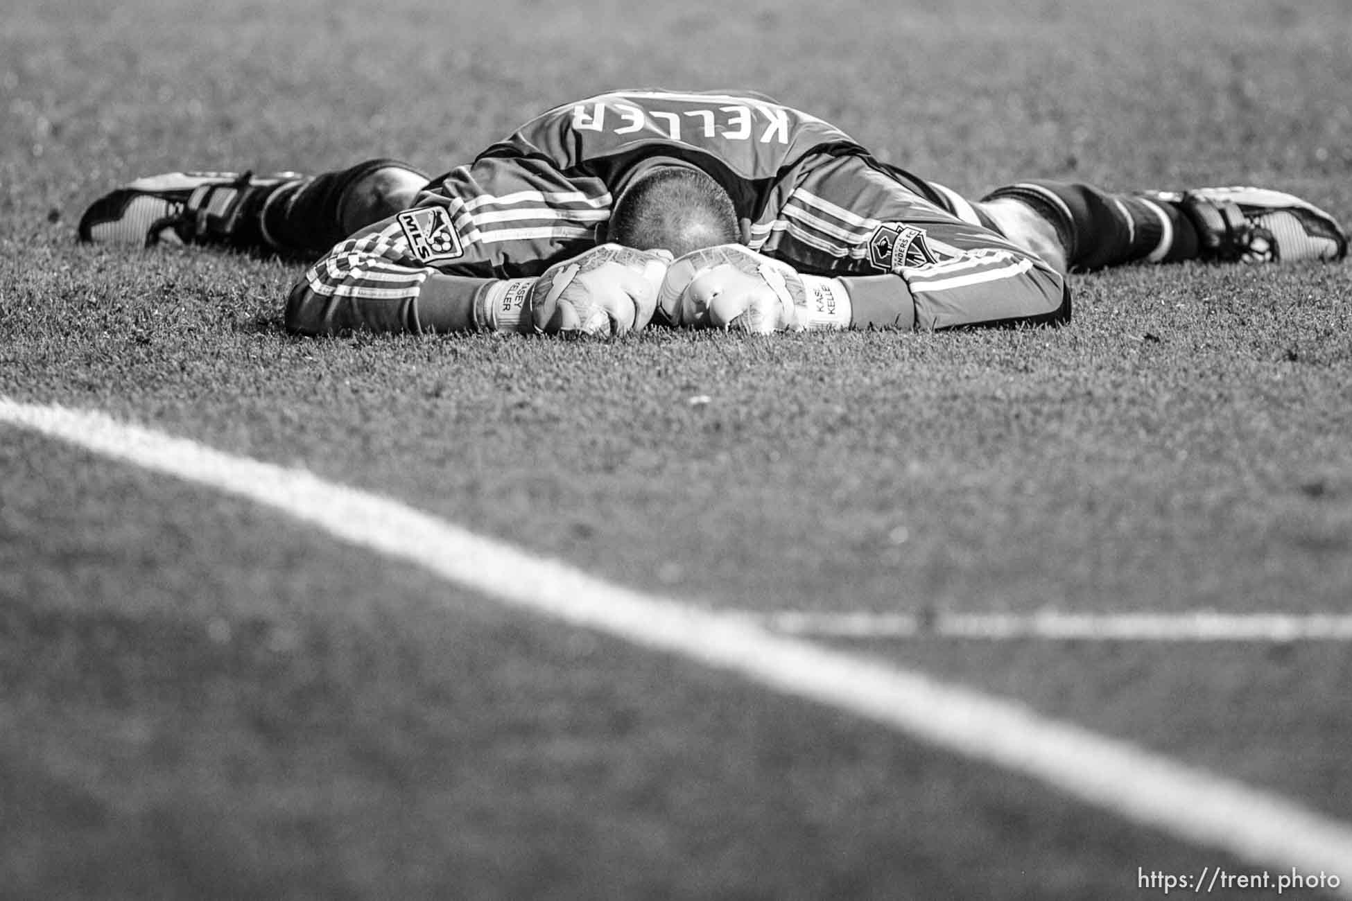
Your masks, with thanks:
M 141 174 L 441 172 L 646 85 L 760 89 L 972 196 L 1259 184 L 1347 223 L 1343 0 L 454 5 L 7 14 L 0 397 L 714 609 L 1352 612 L 1348 265 L 1076 276 L 1059 331 L 306 340 L 300 266 L 74 242 Z M 1352 820 L 1347 644 L 831 644 Z M 1133 898 L 1203 866 L 1255 869 L 0 424 L 3 898 Z

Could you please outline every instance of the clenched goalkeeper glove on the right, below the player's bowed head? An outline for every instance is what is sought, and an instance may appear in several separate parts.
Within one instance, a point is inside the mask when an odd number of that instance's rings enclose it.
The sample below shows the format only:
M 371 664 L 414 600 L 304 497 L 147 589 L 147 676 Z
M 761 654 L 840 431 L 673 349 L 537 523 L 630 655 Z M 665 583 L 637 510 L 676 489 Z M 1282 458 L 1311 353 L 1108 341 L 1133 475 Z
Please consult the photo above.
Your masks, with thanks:
M 799 330 L 803 280 L 788 263 L 741 244 L 696 250 L 667 270 L 657 307 L 673 326 L 744 328 L 765 335 Z

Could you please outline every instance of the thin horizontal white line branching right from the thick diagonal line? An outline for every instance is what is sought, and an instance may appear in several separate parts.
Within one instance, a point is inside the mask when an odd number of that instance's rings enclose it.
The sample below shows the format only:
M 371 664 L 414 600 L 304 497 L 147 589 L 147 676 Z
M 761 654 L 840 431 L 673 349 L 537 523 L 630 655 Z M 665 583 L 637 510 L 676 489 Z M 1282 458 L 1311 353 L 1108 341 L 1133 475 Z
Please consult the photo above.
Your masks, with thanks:
M 1352 642 L 1352 616 L 1333 613 L 869 613 L 744 612 L 775 632 L 815 638 L 963 638 L 991 642 Z

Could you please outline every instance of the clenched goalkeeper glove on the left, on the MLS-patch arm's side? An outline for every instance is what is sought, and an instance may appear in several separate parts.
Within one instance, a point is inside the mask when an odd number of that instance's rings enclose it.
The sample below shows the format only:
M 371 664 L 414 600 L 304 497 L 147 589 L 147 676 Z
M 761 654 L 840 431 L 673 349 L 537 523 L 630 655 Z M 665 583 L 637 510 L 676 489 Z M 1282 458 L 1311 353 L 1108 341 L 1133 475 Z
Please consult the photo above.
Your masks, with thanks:
M 537 332 L 623 335 L 653 317 L 672 255 L 619 244 L 592 247 L 554 263 L 531 292 L 530 320 Z

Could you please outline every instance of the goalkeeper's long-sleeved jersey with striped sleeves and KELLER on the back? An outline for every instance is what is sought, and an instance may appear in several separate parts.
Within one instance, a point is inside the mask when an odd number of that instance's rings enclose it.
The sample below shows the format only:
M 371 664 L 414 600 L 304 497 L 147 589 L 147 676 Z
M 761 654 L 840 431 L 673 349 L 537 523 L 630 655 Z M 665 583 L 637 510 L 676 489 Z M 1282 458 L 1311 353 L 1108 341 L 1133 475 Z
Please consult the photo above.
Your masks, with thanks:
M 722 184 L 752 250 L 803 273 L 850 277 L 857 308 L 904 308 L 859 324 L 1069 316 L 1063 278 L 1040 258 L 952 190 L 877 162 L 836 126 L 754 92 L 644 89 L 549 109 L 433 180 L 412 209 L 315 263 L 292 292 L 288 321 L 301 331 L 408 327 L 433 272 L 538 276 L 604 240 L 612 197 L 653 157 Z

